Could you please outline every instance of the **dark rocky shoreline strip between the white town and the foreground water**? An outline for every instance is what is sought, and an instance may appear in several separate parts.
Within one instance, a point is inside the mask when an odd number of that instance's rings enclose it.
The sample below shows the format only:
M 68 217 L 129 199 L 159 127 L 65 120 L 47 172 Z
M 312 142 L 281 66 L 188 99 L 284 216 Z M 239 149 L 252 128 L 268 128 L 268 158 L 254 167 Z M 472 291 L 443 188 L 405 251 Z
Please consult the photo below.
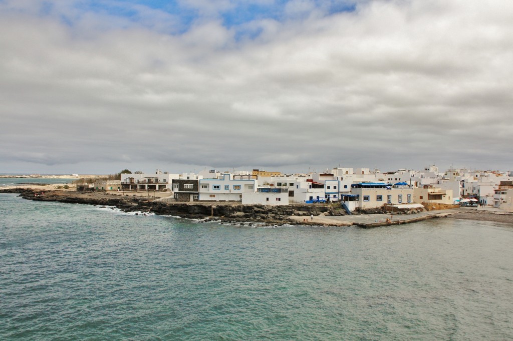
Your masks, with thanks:
M 486 220 L 490 222 L 513 224 L 513 213 L 485 211 L 477 209 L 455 209 L 449 213 L 432 212 L 424 216 L 402 216 L 390 223 L 350 222 L 344 217 L 345 211 L 336 204 L 315 204 L 289 206 L 242 205 L 238 203 L 180 203 L 166 200 L 155 200 L 152 197 L 136 195 L 115 195 L 106 192 L 82 193 L 70 190 L 49 190 L 40 188 L 7 188 L 0 193 L 18 193 L 25 199 L 69 204 L 86 204 L 95 206 L 116 207 L 124 212 L 147 212 L 157 215 L 170 215 L 189 219 L 199 219 L 203 222 L 210 220 L 225 223 L 258 223 L 264 225 L 310 225 L 310 226 L 360 226 L 379 227 L 414 223 L 420 220 L 445 217 L 455 219 Z M 360 212 L 361 217 L 372 217 L 383 212 Z M 310 217 L 314 216 L 312 220 Z M 353 215 L 358 216 L 358 215 Z

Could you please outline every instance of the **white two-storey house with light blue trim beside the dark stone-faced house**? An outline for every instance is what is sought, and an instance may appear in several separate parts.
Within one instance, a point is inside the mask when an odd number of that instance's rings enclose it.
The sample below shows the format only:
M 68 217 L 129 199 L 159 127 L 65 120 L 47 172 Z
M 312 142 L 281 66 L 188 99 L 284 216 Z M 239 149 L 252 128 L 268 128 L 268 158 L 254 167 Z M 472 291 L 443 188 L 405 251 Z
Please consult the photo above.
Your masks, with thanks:
M 200 201 L 242 201 L 244 193 L 257 191 L 256 179 L 233 179 L 225 173 L 219 179 L 200 179 Z

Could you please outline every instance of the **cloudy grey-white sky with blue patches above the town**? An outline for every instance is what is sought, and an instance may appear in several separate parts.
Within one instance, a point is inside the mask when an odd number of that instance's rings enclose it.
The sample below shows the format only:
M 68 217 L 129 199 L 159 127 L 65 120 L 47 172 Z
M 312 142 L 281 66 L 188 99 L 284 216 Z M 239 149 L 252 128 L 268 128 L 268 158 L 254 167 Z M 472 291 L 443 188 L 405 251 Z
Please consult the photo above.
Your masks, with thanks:
M 0 0 L 0 173 L 513 170 L 513 2 Z

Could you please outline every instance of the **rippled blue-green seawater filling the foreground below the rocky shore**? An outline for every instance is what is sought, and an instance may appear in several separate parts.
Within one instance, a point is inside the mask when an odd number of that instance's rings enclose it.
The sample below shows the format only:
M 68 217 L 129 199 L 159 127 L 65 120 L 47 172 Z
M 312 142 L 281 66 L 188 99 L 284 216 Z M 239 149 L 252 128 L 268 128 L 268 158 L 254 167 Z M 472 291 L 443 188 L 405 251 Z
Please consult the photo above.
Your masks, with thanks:
M 246 227 L 0 194 L 2 340 L 511 340 L 513 225 Z

